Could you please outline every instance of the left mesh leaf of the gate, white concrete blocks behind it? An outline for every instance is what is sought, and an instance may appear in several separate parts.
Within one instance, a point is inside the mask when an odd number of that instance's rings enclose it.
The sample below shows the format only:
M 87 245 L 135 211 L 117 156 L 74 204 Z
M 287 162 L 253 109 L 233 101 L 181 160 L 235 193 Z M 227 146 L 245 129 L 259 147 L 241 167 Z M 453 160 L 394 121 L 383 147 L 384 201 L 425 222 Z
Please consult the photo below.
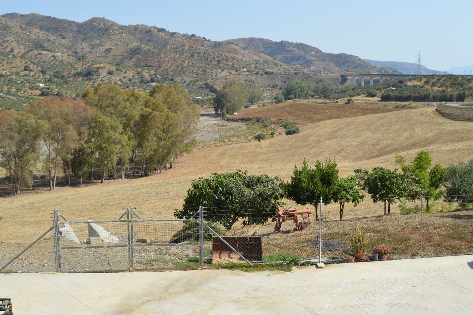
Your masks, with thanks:
M 61 222 L 62 272 L 124 271 L 130 267 L 126 220 Z

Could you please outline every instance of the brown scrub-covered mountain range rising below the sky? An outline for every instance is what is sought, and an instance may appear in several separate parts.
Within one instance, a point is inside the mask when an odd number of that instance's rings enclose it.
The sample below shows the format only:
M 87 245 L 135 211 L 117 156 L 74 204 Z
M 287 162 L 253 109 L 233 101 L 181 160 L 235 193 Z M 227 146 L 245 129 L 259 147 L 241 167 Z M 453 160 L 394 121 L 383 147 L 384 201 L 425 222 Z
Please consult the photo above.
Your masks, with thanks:
M 276 90 L 292 79 L 327 80 L 317 72 L 398 73 L 354 55 L 324 53 L 301 43 L 262 38 L 213 42 L 195 34 L 124 26 L 105 18 L 79 23 L 35 13 L 8 13 L 0 16 L 0 38 L 3 87 L 20 81 L 26 87 L 49 81 L 57 89 L 75 93 L 98 81 L 137 87 L 179 82 L 215 91 L 225 81 L 237 80 Z

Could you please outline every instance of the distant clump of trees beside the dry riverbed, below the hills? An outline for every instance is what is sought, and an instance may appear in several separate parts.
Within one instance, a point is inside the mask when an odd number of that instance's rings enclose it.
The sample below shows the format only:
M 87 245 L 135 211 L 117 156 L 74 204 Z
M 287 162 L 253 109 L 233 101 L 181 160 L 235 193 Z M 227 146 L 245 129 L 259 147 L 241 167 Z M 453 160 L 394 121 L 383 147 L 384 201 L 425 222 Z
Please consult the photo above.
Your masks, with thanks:
M 217 91 L 215 113 L 233 115 L 244 107 L 256 104 L 262 96 L 263 92 L 254 82 L 228 81 Z

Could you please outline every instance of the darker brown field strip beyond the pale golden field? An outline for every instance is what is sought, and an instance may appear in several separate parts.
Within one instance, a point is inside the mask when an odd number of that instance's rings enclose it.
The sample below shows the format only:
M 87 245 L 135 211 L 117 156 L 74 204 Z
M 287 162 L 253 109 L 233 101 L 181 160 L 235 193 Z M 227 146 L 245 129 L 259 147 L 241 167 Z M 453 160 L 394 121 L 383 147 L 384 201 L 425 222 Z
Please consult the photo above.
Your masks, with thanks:
M 390 104 L 333 104 L 333 102 L 316 104 L 289 101 L 261 108 L 245 108 L 240 113 L 229 116 L 228 120 L 262 120 L 271 118 L 275 122 L 280 122 L 281 120 L 289 119 L 295 121 L 300 126 L 305 126 L 324 120 L 374 115 L 398 110 L 402 110 L 402 108 L 394 108 Z

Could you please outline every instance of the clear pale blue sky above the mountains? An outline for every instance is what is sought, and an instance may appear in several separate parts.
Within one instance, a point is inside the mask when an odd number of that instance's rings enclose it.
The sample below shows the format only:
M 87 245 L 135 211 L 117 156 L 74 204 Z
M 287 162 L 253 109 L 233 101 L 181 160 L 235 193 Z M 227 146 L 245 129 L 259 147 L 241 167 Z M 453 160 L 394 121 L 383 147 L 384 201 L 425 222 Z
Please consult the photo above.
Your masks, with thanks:
M 83 22 L 105 17 L 211 40 L 262 37 L 324 52 L 422 64 L 434 70 L 473 64 L 472 0 L 2 0 L 0 14 L 39 13 Z

